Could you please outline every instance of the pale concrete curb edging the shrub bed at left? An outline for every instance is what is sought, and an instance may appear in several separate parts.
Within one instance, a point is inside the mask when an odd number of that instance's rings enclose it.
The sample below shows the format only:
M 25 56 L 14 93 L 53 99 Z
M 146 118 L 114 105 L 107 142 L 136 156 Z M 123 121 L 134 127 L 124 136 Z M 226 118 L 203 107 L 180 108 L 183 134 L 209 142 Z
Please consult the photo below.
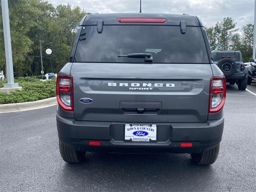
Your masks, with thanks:
M 56 97 L 42 99 L 38 101 L 32 101 L 32 102 L 1 104 L 0 113 L 41 109 L 41 108 L 54 106 L 56 104 L 57 104 Z

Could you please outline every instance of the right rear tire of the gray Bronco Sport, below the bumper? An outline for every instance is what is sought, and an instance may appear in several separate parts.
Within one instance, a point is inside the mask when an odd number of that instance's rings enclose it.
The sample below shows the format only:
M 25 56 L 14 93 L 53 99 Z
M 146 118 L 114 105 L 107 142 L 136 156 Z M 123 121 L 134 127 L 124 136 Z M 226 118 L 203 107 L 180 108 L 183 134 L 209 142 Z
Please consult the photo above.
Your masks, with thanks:
M 191 158 L 193 162 L 198 165 L 210 165 L 216 161 L 219 154 L 219 150 L 220 144 L 204 153 L 192 153 Z

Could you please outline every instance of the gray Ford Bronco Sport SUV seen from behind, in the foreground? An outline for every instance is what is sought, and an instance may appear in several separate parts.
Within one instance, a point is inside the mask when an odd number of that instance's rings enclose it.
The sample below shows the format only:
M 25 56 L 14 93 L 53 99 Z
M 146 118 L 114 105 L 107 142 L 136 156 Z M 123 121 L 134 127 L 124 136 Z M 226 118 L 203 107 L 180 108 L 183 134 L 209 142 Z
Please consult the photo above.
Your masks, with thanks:
M 196 16 L 92 14 L 57 78 L 60 154 L 189 153 L 215 162 L 226 80 Z

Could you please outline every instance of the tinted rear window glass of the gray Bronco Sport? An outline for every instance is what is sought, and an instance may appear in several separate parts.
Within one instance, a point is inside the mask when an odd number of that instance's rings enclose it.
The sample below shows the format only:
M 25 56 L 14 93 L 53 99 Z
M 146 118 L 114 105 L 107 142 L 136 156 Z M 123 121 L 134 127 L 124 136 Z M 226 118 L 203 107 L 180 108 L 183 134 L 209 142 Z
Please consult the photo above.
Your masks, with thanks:
M 118 57 L 120 54 L 151 53 L 153 63 L 209 63 L 200 27 L 104 25 L 83 26 L 74 62 L 142 63 L 144 58 Z

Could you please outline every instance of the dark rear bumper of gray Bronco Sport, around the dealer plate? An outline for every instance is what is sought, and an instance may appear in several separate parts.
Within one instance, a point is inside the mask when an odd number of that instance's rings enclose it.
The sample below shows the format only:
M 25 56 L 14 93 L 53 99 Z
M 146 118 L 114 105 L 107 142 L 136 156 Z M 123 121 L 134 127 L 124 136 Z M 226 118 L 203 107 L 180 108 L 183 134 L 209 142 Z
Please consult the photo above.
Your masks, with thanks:
M 205 123 L 158 123 L 157 142 L 124 142 L 121 122 L 88 122 L 62 118 L 57 114 L 59 139 L 79 151 L 94 152 L 173 152 L 200 153 L 220 143 L 224 118 Z M 101 146 L 89 146 L 89 141 L 101 141 Z M 192 147 L 180 147 L 180 142 L 192 142 Z

